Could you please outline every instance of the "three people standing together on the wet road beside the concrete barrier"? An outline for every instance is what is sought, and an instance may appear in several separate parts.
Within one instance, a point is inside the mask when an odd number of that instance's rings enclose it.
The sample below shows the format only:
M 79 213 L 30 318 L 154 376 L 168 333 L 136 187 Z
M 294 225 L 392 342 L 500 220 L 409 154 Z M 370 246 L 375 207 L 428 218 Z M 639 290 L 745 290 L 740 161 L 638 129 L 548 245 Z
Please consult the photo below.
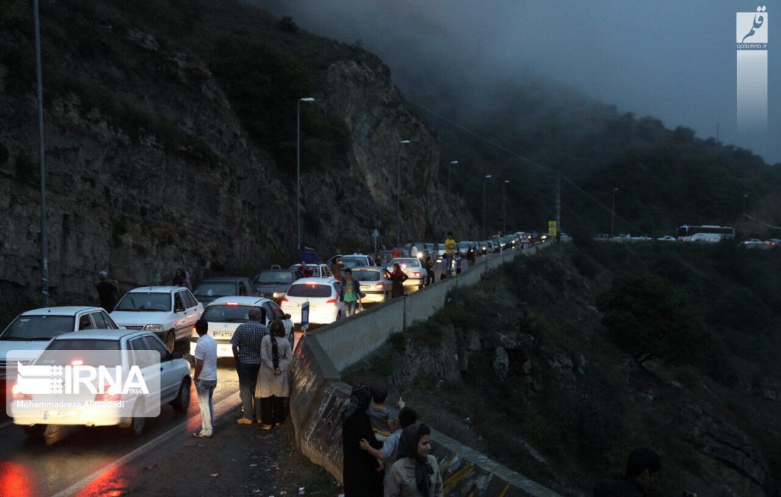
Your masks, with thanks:
M 287 370 L 293 359 L 293 348 L 285 337 L 281 320 L 266 326 L 266 309 L 252 307 L 246 323 L 240 324 L 230 339 L 236 360 L 242 416 L 237 424 L 260 424 L 263 430 L 279 426 L 287 418 L 290 397 Z M 213 395 L 217 386 L 217 343 L 210 337 L 209 321 L 195 324 L 193 380 L 201 406 L 201 430 L 195 438 L 212 438 L 214 420 Z

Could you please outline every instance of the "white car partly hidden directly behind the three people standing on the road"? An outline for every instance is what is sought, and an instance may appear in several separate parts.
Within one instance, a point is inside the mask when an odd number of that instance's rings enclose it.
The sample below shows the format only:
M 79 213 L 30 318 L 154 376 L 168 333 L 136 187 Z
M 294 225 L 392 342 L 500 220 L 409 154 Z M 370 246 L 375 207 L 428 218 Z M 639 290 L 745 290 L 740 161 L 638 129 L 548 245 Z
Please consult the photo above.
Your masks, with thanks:
M 280 319 L 285 325 L 285 336 L 293 340 L 293 321 L 291 316 L 285 314 L 271 299 L 263 297 L 220 297 L 210 302 L 203 310 L 201 319 L 209 321 L 209 336 L 217 342 L 217 357 L 233 357 L 233 347 L 230 339 L 234 338 L 234 332 L 240 324 L 248 321 L 249 309 L 261 307 L 266 309 L 266 324 L 272 320 Z M 198 333 L 192 332 L 190 338 L 190 353 L 195 354 L 195 344 L 198 343 Z

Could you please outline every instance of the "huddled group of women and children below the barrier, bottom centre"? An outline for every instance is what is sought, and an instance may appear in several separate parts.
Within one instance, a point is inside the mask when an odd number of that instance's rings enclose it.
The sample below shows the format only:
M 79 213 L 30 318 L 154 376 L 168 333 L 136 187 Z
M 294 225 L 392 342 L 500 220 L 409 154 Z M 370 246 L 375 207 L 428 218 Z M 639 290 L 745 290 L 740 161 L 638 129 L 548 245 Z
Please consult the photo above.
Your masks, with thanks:
M 395 419 L 386 400 L 385 388 L 352 388 L 342 413 L 344 497 L 441 497 L 430 428 L 401 399 Z

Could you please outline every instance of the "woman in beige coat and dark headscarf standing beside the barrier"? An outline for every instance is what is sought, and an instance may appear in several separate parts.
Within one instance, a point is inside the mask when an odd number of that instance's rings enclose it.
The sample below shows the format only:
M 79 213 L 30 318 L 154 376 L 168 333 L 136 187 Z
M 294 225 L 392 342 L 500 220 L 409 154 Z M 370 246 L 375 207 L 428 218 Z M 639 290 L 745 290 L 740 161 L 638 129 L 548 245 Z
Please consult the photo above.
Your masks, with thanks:
M 285 325 L 280 320 L 271 322 L 271 333 L 263 337 L 263 360 L 255 385 L 255 397 L 260 399 L 262 429 L 270 430 L 287 418 L 285 401 L 290 397 L 287 368 L 293 360 L 291 342 L 285 338 Z

